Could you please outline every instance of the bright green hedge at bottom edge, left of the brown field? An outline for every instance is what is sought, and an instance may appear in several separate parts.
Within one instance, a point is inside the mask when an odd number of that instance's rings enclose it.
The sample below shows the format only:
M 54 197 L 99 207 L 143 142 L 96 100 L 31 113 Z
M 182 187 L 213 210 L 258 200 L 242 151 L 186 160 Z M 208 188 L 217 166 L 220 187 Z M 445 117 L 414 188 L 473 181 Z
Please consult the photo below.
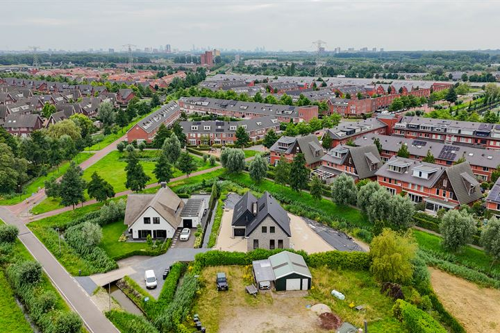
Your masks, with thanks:
M 431 315 L 404 300 L 397 300 L 392 309 L 410 333 L 447 333 Z

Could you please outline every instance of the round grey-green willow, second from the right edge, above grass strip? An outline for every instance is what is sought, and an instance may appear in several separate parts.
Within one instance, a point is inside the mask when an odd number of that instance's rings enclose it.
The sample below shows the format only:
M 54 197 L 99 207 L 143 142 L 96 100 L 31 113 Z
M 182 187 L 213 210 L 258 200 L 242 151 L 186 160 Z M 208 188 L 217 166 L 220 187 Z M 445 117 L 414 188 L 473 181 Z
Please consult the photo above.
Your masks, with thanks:
M 441 219 L 440 232 L 442 246 L 447 250 L 456 251 L 471 239 L 476 232 L 476 225 L 472 215 L 465 210 L 449 210 Z

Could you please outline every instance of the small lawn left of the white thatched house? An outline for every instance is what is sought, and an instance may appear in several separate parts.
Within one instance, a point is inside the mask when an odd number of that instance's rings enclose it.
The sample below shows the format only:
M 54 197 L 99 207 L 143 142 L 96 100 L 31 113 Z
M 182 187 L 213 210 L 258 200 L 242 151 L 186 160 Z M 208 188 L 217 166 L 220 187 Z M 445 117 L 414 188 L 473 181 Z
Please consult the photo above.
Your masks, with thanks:
M 103 237 L 100 248 L 108 253 L 112 258 L 122 256 L 125 253 L 132 253 L 137 250 L 146 250 L 148 248 L 146 243 L 131 243 L 118 241 L 118 238 L 126 230 L 126 225 L 124 225 L 123 220 L 119 220 L 108 225 L 104 225 L 102 228 Z

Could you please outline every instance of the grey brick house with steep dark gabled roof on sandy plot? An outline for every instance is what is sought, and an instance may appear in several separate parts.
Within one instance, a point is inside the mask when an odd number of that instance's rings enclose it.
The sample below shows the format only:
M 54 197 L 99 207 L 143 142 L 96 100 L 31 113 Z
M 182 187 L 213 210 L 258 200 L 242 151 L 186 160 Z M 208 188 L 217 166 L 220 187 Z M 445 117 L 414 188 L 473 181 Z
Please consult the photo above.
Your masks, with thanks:
M 231 223 L 233 237 L 245 237 L 247 250 L 290 248 L 290 218 L 267 191 L 256 198 L 248 191 L 236 203 Z

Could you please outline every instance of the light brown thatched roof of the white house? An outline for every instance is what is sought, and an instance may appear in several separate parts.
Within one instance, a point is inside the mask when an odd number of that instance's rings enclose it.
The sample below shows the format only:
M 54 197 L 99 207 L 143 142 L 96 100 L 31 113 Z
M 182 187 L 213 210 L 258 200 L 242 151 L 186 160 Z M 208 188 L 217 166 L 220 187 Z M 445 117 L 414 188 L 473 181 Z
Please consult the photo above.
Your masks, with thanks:
M 160 187 L 156 194 L 128 194 L 124 223 L 131 227 L 151 207 L 173 228 L 178 228 L 184 206 L 184 201 L 169 187 Z

